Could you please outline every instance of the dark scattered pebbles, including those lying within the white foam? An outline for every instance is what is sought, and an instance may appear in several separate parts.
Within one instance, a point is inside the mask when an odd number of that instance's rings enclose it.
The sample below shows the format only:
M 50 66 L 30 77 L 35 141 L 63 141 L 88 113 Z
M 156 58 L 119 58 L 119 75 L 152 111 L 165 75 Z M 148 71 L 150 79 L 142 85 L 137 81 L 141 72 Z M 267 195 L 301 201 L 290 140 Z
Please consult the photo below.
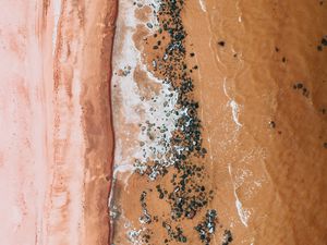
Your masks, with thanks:
M 192 64 L 191 66 L 186 63 L 189 53 L 190 57 L 194 57 L 195 53 L 186 51 L 185 38 L 187 34 L 181 19 L 183 5 L 183 0 L 162 0 L 160 2 L 158 10 L 155 12 L 158 29 L 149 37 L 155 38 L 155 42 L 148 41 L 154 44 L 149 48 L 157 50 L 156 59 L 152 61 L 149 66 L 158 72 L 164 84 L 169 84 L 171 90 L 171 94 L 167 95 L 164 107 L 168 108 L 171 105 L 171 97 L 178 95 L 174 100 L 175 108 L 165 111 L 167 118 L 177 117 L 175 130 L 169 132 L 171 137 L 165 136 L 161 139 L 162 134 L 168 131 L 165 125 L 159 126 L 148 121 L 140 125 L 143 135 L 148 137 L 147 140 L 141 142 L 140 146 L 158 142 L 160 147 L 162 146 L 165 149 L 165 154 L 155 152 L 155 149 L 149 147 L 156 159 L 152 159 L 146 151 L 143 151 L 143 157 L 149 159 L 149 161 L 141 162 L 137 160 L 134 163 L 136 172 L 144 177 L 148 177 L 148 181 L 153 181 L 154 186 L 156 186 L 154 189 L 157 191 L 150 194 L 148 189 L 145 189 L 140 197 L 142 206 L 140 221 L 147 225 L 147 230 L 150 231 L 148 229 L 149 224 L 158 222 L 161 216 L 161 213 L 148 212 L 147 195 L 155 195 L 155 198 L 169 205 L 170 216 L 166 217 L 165 222 L 162 222 L 162 229 L 168 234 L 168 237 L 164 241 L 165 244 L 170 242 L 190 243 L 183 231 L 183 221 L 195 219 L 215 196 L 211 186 L 207 186 L 204 182 L 207 173 L 203 158 L 205 158 L 207 150 L 203 146 L 202 122 L 198 117 L 199 106 L 194 100 L 194 81 L 192 77 L 192 70 L 197 70 L 198 64 Z M 148 24 L 150 23 L 147 23 L 147 27 L 153 28 L 153 25 Z M 162 41 L 165 37 L 167 38 Z M 147 40 L 145 40 L 145 45 L 147 45 Z M 225 41 L 220 41 L 218 45 L 223 47 Z M 155 98 L 152 98 L 152 101 L 157 102 Z M 155 107 L 149 110 L 153 113 Z M 159 184 L 166 183 L 159 182 L 164 177 L 165 180 L 168 177 L 168 185 Z M 148 196 L 148 199 L 153 197 Z M 199 224 L 202 225 L 199 230 L 205 232 L 205 244 L 210 243 L 210 237 L 216 231 L 216 222 L 218 222 L 217 211 L 208 210 L 205 219 Z M 152 238 L 148 233 L 146 234 L 143 238 L 146 243 L 150 243 Z M 203 238 L 203 234 L 199 234 L 199 238 Z

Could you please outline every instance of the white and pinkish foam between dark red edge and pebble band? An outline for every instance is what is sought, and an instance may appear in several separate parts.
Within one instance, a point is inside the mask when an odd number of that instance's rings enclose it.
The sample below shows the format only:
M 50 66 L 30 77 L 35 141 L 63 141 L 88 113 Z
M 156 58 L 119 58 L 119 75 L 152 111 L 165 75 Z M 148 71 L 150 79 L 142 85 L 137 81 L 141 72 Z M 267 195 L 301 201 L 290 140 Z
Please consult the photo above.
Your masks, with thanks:
M 158 10 L 159 2 L 160 1 L 158 0 L 142 1 L 144 4 L 153 5 L 153 10 L 155 11 Z M 117 132 L 121 133 L 124 130 L 124 126 L 129 123 L 133 125 L 140 124 L 147 127 L 146 121 L 152 124 L 156 123 L 156 126 L 158 127 L 164 127 L 165 125 L 168 130 L 165 133 L 161 131 L 153 132 L 155 127 L 149 127 L 150 133 L 156 134 L 154 139 L 149 139 L 146 134 L 147 131 L 143 132 L 140 128 L 140 132 L 136 132 L 135 135 L 131 136 L 133 140 L 136 139 L 144 143 L 143 146 L 140 147 L 130 148 L 129 145 L 125 145 L 124 142 L 117 138 L 113 177 L 116 180 L 119 179 L 119 181 L 123 181 L 124 188 L 126 188 L 130 176 L 133 174 L 135 169 L 138 170 L 138 167 L 134 166 L 135 159 L 140 161 L 140 166 L 142 167 L 143 164 L 146 164 L 148 160 L 160 160 L 157 157 L 158 154 L 160 154 L 162 162 L 172 162 L 169 161 L 169 159 L 166 159 L 165 155 L 167 149 L 160 140 L 165 139 L 165 142 L 169 142 L 171 132 L 175 128 L 175 121 L 179 117 L 181 117 L 182 112 L 179 113 L 180 115 L 169 113 L 175 107 L 178 94 L 170 90 L 171 86 L 169 84 L 165 84 L 148 71 L 147 66 L 142 62 L 142 52 L 137 50 L 134 45 L 132 37 L 136 30 L 136 26 L 138 24 L 146 24 L 147 22 L 143 23 L 136 20 L 132 0 L 120 1 L 119 4 L 120 10 L 113 47 L 113 56 L 116 59 L 113 59 L 112 69 L 113 73 L 120 70 L 125 71 L 125 73 L 123 76 L 113 74 L 112 84 L 119 87 L 122 101 L 121 110 L 125 117 L 123 119 L 123 123 L 116 125 Z M 149 23 L 153 24 L 153 28 L 148 29 L 150 32 L 149 35 L 152 35 L 152 32 L 155 32 L 158 27 L 156 17 L 152 16 Z M 159 93 L 156 95 L 156 101 L 141 97 L 142 93 L 133 77 L 134 71 L 137 66 L 142 70 L 142 72 L 147 74 L 152 83 L 162 84 Z M 172 94 L 172 97 L 169 97 L 170 94 Z M 125 132 L 125 134 L 129 134 L 129 132 Z M 129 154 L 123 155 L 123 151 Z M 113 203 L 111 194 L 109 197 L 109 205 L 113 205 Z M 142 230 L 136 230 L 134 229 L 134 225 L 131 224 L 129 228 L 125 228 L 125 232 L 131 238 L 131 243 L 142 244 L 142 241 L 138 241 L 137 238 L 137 235 L 142 232 Z

